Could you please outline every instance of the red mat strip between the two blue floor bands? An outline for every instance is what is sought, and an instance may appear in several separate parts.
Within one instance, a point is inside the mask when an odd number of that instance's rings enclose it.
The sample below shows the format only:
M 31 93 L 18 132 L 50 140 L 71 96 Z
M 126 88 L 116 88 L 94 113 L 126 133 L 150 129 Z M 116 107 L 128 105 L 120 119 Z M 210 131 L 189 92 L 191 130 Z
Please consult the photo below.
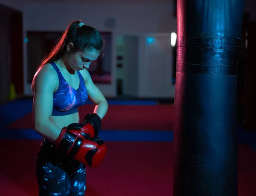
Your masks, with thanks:
M 80 119 L 93 112 L 93 105 L 79 108 Z M 14 111 L 15 112 L 15 111 Z M 103 130 L 172 131 L 174 122 L 173 105 L 109 105 L 103 119 Z M 8 128 L 32 129 L 32 113 L 9 125 Z

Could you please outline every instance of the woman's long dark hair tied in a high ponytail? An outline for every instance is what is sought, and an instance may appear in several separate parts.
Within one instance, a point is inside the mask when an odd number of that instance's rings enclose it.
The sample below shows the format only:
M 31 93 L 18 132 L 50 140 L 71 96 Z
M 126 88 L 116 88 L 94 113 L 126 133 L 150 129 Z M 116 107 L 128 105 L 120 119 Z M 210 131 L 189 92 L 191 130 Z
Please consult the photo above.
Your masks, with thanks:
M 70 42 L 73 43 L 71 52 L 76 52 L 78 50 L 84 51 L 85 49 L 102 51 L 104 48 L 104 40 L 102 39 L 100 33 L 96 30 L 96 28 L 91 26 L 79 26 L 80 23 L 81 22 L 78 20 L 70 23 L 66 31 L 64 31 L 61 38 L 58 40 L 58 43 L 41 61 L 38 69 L 49 62 L 55 62 L 61 59 L 67 48 L 67 44 Z

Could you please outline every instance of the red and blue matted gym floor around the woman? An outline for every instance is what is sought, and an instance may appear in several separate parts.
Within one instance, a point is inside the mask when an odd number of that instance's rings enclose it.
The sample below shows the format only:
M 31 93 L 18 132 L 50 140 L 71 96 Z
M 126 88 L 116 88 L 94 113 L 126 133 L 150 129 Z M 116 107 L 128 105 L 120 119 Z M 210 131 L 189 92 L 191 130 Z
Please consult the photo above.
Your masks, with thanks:
M 99 137 L 107 155 L 99 168 L 87 169 L 86 196 L 172 196 L 172 102 L 109 99 Z M 79 108 L 81 119 L 93 111 Z M 32 128 L 32 99 L 0 106 L 0 191 L 8 196 L 38 195 L 35 155 L 41 136 Z M 239 196 L 254 196 L 256 131 L 239 128 Z M 157 157 L 157 160 L 156 160 Z

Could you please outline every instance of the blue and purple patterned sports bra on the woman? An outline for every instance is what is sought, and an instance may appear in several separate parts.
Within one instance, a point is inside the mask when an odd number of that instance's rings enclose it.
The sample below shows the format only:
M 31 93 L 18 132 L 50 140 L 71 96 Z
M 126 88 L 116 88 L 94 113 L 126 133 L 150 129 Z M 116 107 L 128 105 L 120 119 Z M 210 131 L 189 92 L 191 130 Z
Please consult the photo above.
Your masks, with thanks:
M 80 85 L 77 90 L 72 88 L 64 79 L 55 62 L 50 63 L 58 74 L 59 85 L 53 94 L 52 116 L 64 116 L 78 112 L 78 107 L 84 105 L 88 99 L 84 78 L 78 71 Z

